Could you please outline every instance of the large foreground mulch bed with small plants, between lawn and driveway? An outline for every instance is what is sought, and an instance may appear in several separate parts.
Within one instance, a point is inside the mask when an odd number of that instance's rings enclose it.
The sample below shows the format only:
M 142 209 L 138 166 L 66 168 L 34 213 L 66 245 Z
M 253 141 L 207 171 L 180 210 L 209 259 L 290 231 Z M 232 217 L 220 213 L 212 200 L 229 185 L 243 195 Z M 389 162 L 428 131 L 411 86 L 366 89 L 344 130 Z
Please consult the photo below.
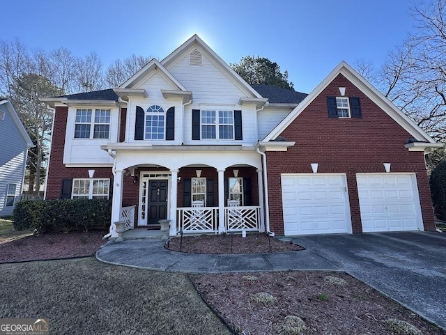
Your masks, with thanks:
M 446 334 L 341 272 L 203 274 L 190 278 L 203 299 L 238 334 L 415 334 L 391 332 L 383 322 L 389 318 L 409 322 L 422 334 Z M 260 292 L 277 300 L 268 305 L 253 302 L 253 295 Z M 286 332 L 287 315 L 301 318 L 306 329 Z

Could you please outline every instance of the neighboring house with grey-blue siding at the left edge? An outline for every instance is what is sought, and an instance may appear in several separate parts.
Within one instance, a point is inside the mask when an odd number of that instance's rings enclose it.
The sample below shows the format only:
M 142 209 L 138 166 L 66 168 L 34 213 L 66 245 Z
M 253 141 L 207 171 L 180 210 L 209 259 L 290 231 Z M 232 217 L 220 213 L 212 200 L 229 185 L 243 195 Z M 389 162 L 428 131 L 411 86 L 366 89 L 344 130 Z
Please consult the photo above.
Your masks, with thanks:
M 28 149 L 33 147 L 13 104 L 0 98 L 0 217 L 13 214 L 22 194 Z

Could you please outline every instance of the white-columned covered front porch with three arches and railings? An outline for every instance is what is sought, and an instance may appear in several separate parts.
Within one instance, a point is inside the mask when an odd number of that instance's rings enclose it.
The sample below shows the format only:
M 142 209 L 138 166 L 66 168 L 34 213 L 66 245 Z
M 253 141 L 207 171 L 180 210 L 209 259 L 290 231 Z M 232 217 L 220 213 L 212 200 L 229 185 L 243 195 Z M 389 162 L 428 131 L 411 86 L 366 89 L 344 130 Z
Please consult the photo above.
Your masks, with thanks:
M 178 158 L 165 152 L 137 154 L 134 162 L 125 162 L 128 150 L 114 153 L 112 237 L 118 236 L 116 221 L 125 221 L 127 230 L 156 230 L 160 219 L 169 219 L 170 236 L 265 230 L 261 156 L 255 151 L 183 153 Z M 224 165 L 224 158 L 234 154 L 236 159 L 229 159 L 233 164 Z M 195 162 L 172 166 L 180 159 Z

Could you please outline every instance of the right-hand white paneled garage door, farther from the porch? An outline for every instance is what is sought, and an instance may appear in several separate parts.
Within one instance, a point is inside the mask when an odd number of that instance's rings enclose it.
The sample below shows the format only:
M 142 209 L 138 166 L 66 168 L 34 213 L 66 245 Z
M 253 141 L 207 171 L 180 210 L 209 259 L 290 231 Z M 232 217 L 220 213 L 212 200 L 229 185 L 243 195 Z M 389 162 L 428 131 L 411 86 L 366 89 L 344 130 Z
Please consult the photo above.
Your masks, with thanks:
M 357 174 L 362 231 L 417 231 L 422 227 L 415 175 Z

